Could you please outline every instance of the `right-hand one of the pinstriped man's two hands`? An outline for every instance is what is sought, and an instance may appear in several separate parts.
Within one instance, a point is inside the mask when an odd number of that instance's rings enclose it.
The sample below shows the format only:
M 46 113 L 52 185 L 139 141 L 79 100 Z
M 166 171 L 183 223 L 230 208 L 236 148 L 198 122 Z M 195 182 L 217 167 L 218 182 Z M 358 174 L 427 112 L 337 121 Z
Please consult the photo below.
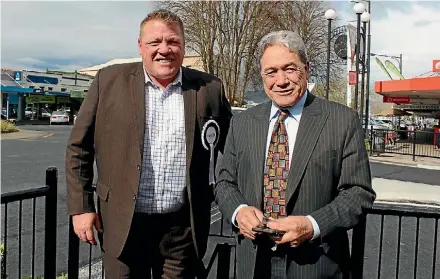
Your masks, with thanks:
M 298 247 L 304 241 L 313 238 L 313 225 L 306 216 L 271 219 L 267 226 L 285 232 L 281 239 L 275 240 L 276 244 L 290 243 L 292 247 Z

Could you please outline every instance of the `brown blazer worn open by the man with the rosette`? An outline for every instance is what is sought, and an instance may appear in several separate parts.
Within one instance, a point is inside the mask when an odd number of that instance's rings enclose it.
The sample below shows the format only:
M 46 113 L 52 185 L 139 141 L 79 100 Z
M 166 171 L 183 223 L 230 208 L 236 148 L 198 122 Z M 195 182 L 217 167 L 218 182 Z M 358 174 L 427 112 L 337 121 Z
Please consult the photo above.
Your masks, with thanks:
M 187 195 L 196 251 L 206 251 L 213 193 L 208 185 L 209 152 L 201 130 L 209 119 L 220 125 L 217 151 L 223 150 L 232 116 L 222 82 L 182 68 L 187 150 Z M 96 75 L 67 145 L 69 215 L 95 212 L 93 162 L 96 159 L 102 248 L 119 256 L 131 226 L 138 193 L 145 129 L 145 78 L 142 63 L 113 65 Z

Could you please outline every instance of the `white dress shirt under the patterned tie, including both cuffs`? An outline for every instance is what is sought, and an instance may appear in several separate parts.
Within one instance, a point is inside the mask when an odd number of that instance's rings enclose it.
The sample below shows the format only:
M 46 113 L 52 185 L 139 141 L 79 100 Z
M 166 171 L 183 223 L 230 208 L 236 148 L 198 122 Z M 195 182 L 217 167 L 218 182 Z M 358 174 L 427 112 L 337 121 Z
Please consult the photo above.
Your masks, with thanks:
M 301 99 L 298 101 L 298 103 L 296 103 L 294 106 L 288 108 L 289 115 L 284 120 L 284 124 L 285 124 L 286 130 L 287 130 L 287 137 L 289 139 L 289 165 L 290 166 L 292 165 L 292 164 L 290 164 L 290 162 L 292 161 L 292 154 L 293 154 L 293 149 L 295 147 L 296 136 L 298 134 L 299 122 L 301 121 L 301 115 L 302 115 L 302 111 L 303 111 L 304 103 L 306 102 L 306 99 L 307 99 L 307 92 L 301 97 Z M 269 117 L 269 121 L 270 121 L 269 130 L 267 133 L 266 154 L 269 150 L 271 134 L 272 134 L 273 128 L 275 126 L 275 123 L 277 121 L 279 110 L 280 110 L 280 108 L 274 102 L 272 102 L 272 107 L 270 109 L 270 117 Z M 266 155 L 266 158 L 267 158 L 267 155 Z M 287 187 L 289 187 L 289 185 L 287 185 Z M 237 209 L 235 209 L 234 214 L 232 214 L 232 223 L 236 227 L 238 227 L 238 225 L 236 223 L 235 217 L 237 216 L 238 211 L 242 207 L 245 207 L 245 206 L 247 206 L 247 204 L 239 205 L 237 207 Z M 309 218 L 310 222 L 313 225 L 313 238 L 312 238 L 312 240 L 316 239 L 321 234 L 321 232 L 319 230 L 318 223 L 310 215 L 307 215 L 307 218 Z

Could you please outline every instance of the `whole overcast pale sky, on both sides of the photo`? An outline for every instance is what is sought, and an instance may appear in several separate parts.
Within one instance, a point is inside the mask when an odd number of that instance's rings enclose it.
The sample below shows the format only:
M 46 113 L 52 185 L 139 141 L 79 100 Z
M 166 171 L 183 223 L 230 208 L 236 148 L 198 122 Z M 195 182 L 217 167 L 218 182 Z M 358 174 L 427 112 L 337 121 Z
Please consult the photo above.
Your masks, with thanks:
M 356 19 L 350 1 L 328 3 L 342 25 Z M 139 22 L 155 2 L 1 2 L 1 66 L 75 70 L 137 57 Z M 403 54 L 403 75 L 440 59 L 440 1 L 372 1 L 372 52 Z M 396 65 L 397 66 L 397 65 Z M 374 60 L 372 80 L 388 79 Z

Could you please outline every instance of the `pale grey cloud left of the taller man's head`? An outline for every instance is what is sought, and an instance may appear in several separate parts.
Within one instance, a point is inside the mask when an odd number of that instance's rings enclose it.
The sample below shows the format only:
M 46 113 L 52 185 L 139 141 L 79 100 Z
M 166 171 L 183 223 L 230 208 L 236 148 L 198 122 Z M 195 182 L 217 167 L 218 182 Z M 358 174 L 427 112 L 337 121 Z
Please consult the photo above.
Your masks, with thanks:
M 75 70 L 136 57 L 139 23 L 155 2 L 2 2 L 1 64 Z

